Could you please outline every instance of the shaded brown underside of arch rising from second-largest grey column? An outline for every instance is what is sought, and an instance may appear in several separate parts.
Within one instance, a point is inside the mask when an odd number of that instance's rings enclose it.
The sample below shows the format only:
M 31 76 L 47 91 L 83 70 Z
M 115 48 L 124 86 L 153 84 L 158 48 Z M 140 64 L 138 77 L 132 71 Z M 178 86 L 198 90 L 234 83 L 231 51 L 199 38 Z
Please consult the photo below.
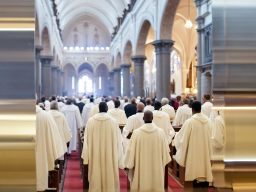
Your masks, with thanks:
M 137 40 L 137 46 L 136 46 L 136 55 L 145 55 L 145 44 L 146 40 L 148 38 L 148 32 L 151 27 L 151 23 L 148 20 L 144 20 L 143 24 L 140 28 L 140 33 L 138 35 L 138 40 Z

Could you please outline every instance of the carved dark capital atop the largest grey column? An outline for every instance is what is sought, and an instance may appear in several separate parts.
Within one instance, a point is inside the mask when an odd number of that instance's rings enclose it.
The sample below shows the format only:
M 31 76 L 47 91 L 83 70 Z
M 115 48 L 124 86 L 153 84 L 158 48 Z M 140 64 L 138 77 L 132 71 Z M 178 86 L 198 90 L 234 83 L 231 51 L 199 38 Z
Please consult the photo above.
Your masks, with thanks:
M 172 46 L 174 45 L 173 40 L 156 40 L 152 43 L 155 46 L 156 54 L 170 54 Z

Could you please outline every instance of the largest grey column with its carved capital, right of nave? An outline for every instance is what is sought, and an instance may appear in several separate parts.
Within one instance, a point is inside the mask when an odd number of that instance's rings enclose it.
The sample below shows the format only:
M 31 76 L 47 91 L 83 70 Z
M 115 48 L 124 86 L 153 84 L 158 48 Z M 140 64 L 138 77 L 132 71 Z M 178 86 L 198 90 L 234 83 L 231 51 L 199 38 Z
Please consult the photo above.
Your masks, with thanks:
M 164 97 L 170 99 L 171 96 L 170 53 L 173 44 L 172 40 L 153 42 L 156 52 L 156 98 L 158 101 Z

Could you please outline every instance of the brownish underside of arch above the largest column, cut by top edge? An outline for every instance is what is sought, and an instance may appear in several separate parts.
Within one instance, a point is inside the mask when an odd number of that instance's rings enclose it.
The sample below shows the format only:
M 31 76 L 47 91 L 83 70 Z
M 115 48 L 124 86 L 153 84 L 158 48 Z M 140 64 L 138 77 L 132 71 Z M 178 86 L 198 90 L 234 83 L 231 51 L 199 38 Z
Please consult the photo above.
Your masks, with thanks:
M 168 0 L 162 14 L 160 39 L 172 39 L 172 27 L 180 0 Z

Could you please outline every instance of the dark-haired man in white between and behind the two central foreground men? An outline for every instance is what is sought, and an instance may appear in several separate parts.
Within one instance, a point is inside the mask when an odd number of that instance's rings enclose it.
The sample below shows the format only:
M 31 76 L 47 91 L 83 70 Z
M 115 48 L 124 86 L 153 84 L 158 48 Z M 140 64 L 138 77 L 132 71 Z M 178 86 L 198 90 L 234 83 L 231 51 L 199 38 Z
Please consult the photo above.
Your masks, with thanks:
M 123 125 L 127 123 L 127 117 L 123 110 L 120 107 L 120 101 L 115 101 L 115 108 L 108 110 L 108 114 L 115 118 L 119 125 Z

